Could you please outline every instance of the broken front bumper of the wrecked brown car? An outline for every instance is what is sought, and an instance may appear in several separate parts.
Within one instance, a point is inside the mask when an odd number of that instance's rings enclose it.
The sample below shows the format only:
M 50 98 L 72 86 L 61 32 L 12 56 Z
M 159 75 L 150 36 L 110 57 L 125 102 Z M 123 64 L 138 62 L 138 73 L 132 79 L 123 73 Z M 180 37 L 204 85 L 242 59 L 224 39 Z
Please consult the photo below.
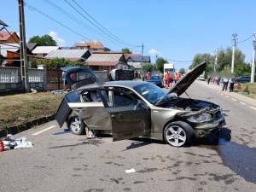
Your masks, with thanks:
M 224 114 L 221 114 L 221 117 L 219 119 L 215 119 L 211 122 L 194 125 L 195 137 L 209 137 L 214 132 L 219 131 L 224 125 L 226 125 Z

